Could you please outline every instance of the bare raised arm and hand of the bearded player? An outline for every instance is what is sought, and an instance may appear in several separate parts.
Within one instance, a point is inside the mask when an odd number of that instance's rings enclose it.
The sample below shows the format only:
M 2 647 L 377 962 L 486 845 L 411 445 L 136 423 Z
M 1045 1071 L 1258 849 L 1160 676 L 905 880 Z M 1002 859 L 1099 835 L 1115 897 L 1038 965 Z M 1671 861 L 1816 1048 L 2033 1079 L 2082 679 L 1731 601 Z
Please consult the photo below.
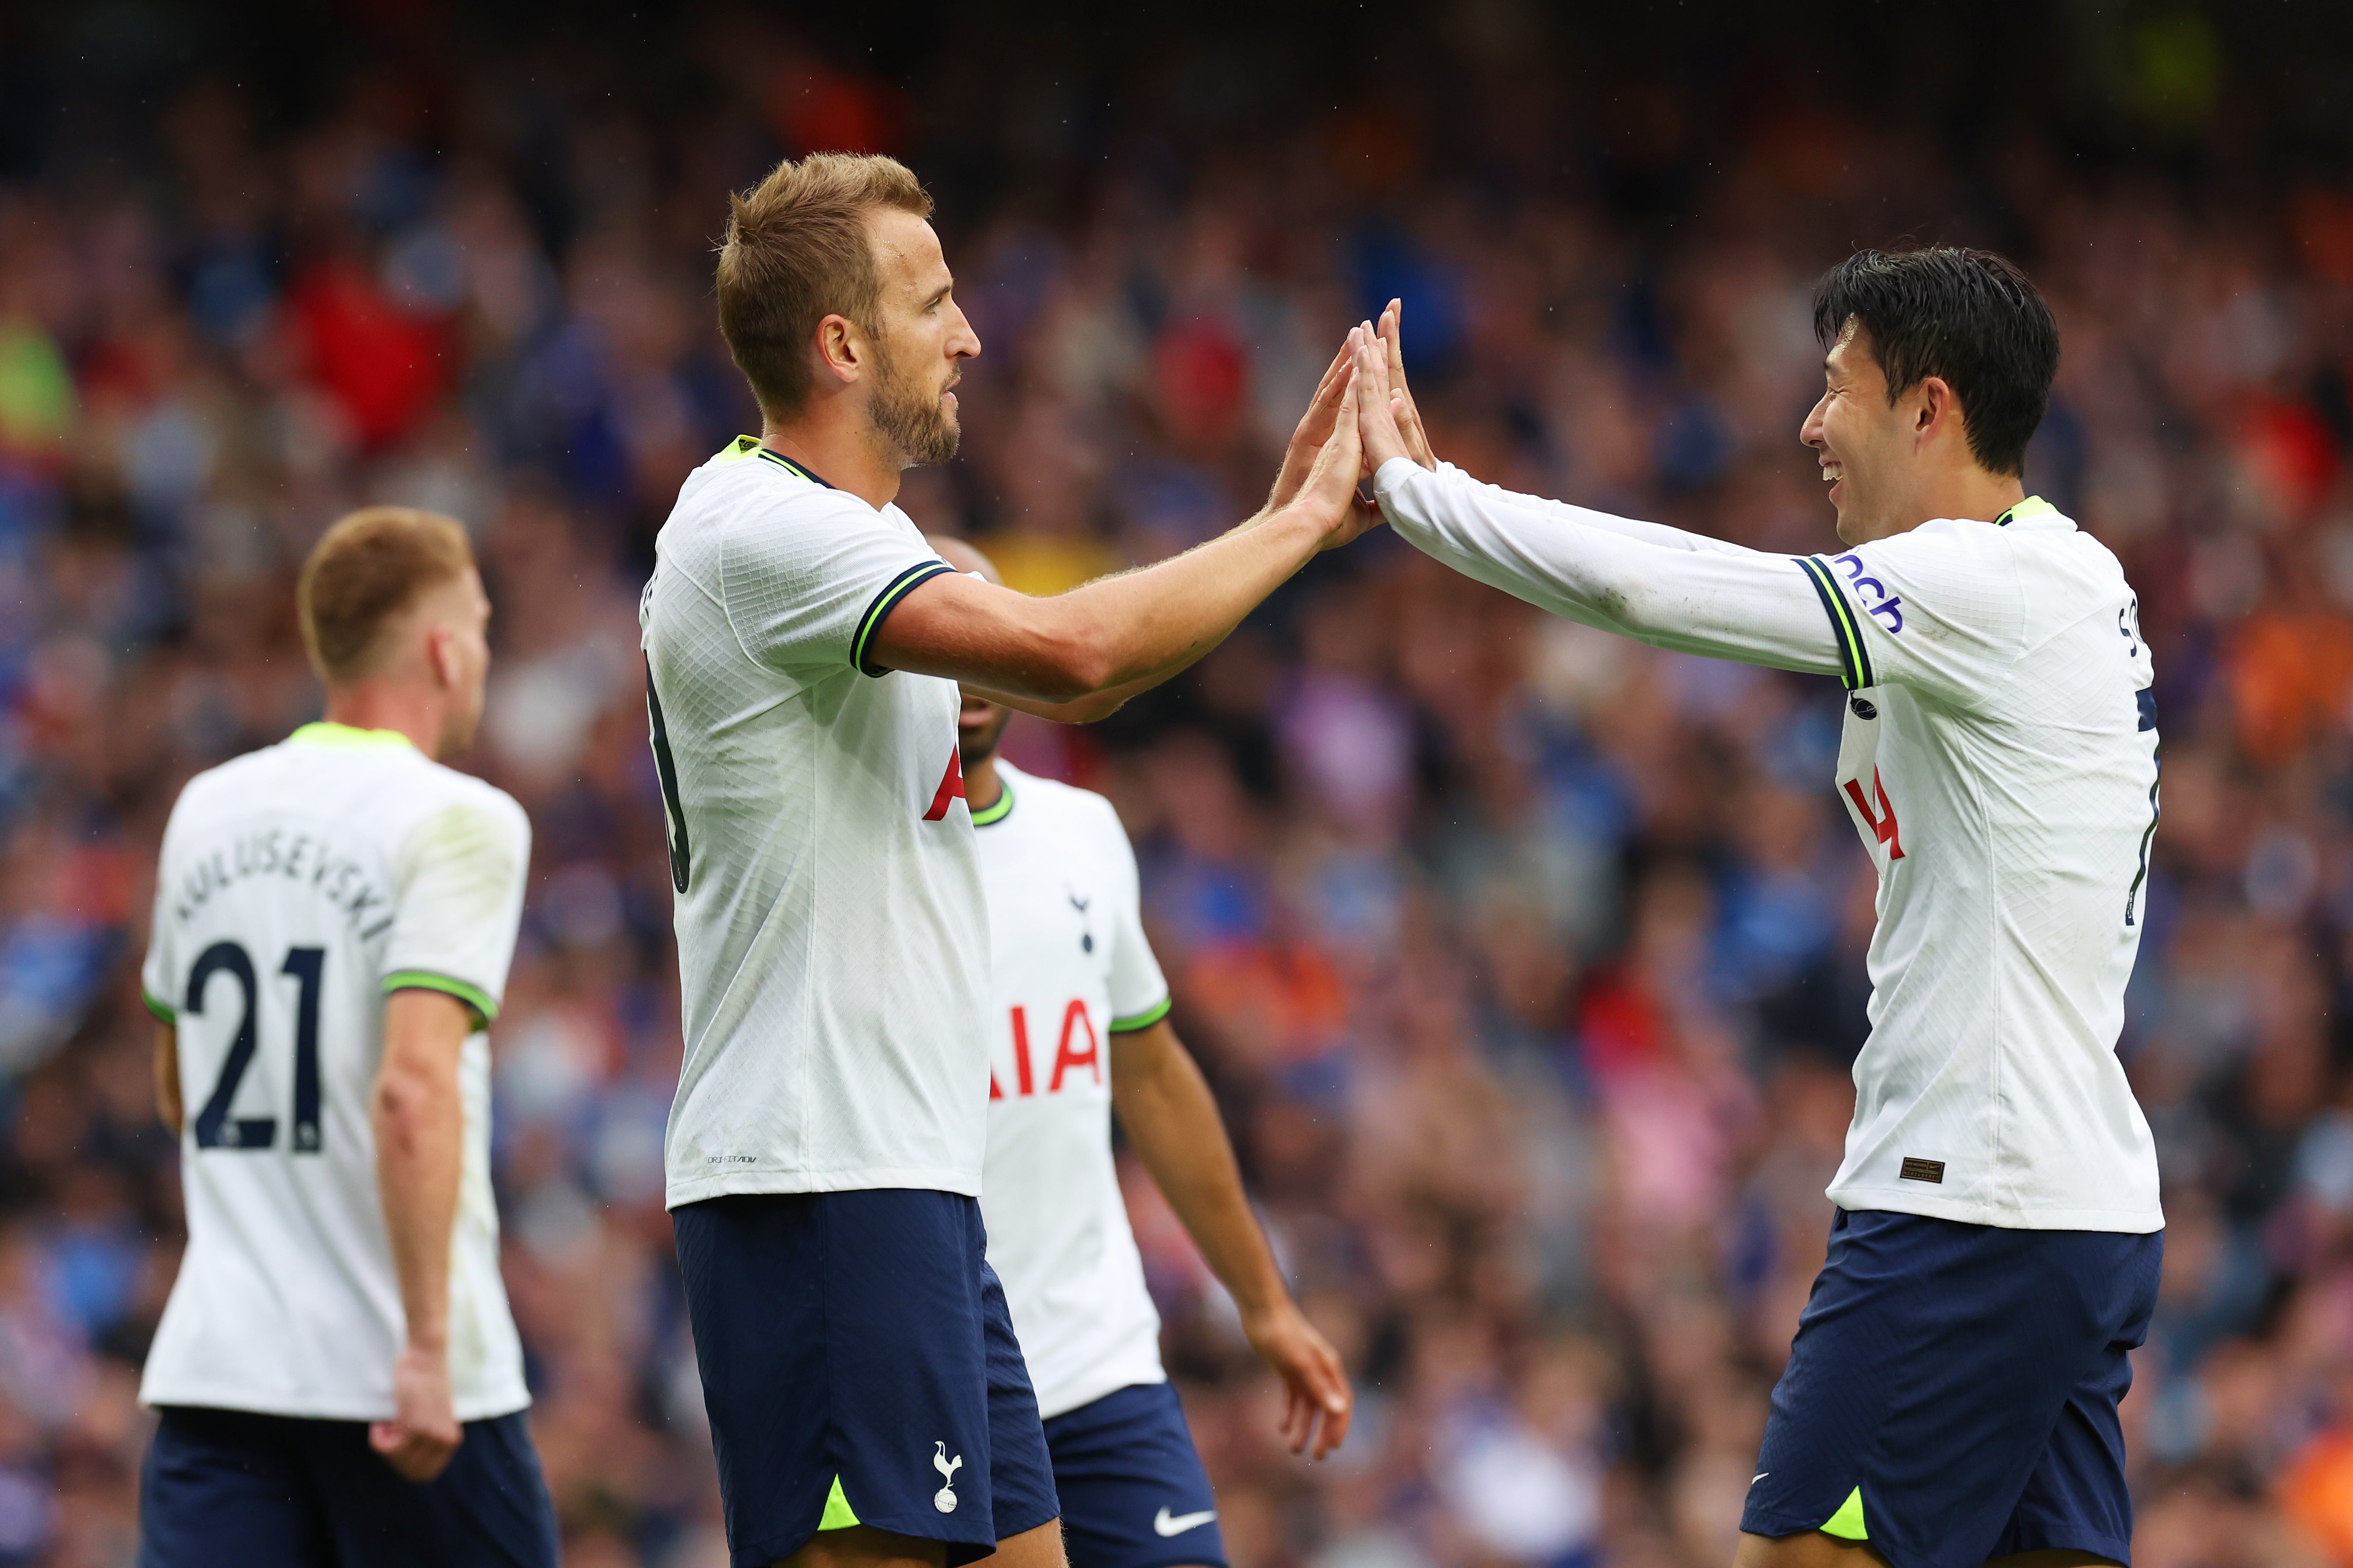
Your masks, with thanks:
M 965 574 L 922 583 L 875 630 L 873 663 L 944 675 L 1049 719 L 1094 719 L 1214 649 L 1318 550 L 1379 522 L 1355 496 L 1355 376 L 1297 498 L 1158 567 L 1033 599 Z

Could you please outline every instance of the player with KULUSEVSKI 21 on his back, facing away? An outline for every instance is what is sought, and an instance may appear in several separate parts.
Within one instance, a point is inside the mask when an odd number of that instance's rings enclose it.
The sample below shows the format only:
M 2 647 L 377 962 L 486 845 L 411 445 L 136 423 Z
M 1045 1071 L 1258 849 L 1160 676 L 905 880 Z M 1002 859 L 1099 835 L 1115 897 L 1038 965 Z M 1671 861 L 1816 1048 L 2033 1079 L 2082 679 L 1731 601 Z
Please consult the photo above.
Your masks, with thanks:
M 327 717 L 188 780 L 155 872 L 188 1251 L 139 1389 L 139 1561 L 553 1566 L 485 1034 L 532 827 L 442 766 L 482 717 L 489 599 L 459 524 L 369 508 L 299 609 Z

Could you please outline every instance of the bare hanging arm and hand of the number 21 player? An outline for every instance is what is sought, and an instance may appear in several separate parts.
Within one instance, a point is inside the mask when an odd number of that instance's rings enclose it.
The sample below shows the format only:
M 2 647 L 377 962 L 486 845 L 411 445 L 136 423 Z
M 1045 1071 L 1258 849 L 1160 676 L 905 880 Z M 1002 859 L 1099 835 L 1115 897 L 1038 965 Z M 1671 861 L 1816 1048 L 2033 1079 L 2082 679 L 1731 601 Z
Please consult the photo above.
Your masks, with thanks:
M 393 992 L 384 1001 L 384 1065 L 367 1107 L 409 1326 L 409 1342 L 393 1361 L 393 1420 L 372 1422 L 367 1441 L 409 1481 L 438 1476 L 464 1441 L 449 1396 L 449 1232 L 466 1161 L 456 1070 L 473 1030 L 473 1013 L 456 997 Z

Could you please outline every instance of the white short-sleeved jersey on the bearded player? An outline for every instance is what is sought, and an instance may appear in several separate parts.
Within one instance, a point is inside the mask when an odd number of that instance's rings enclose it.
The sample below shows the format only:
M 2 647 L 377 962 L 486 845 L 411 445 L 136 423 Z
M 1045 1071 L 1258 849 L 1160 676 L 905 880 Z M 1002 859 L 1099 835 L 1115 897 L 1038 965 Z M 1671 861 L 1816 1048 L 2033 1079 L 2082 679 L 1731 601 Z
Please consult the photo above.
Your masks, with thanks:
M 668 1201 L 981 1190 L 988 922 L 955 682 L 868 644 L 948 571 L 739 437 L 687 475 L 640 602 L 685 1063 Z

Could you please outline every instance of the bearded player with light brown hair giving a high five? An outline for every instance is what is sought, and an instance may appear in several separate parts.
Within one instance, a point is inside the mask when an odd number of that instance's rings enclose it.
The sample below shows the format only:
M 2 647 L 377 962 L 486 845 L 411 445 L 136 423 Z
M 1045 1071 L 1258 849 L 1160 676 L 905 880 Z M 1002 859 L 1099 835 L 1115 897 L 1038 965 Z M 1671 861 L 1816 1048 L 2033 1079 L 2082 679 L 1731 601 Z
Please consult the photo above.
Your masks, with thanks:
M 955 456 L 981 350 L 929 212 L 904 165 L 833 153 L 734 197 L 720 331 L 765 430 L 687 477 L 640 602 L 685 999 L 668 1206 L 736 1563 L 1061 1561 L 976 1201 L 958 682 L 1111 712 L 1374 522 L 1337 367 L 1247 527 L 1054 599 L 953 571 L 892 505 Z

